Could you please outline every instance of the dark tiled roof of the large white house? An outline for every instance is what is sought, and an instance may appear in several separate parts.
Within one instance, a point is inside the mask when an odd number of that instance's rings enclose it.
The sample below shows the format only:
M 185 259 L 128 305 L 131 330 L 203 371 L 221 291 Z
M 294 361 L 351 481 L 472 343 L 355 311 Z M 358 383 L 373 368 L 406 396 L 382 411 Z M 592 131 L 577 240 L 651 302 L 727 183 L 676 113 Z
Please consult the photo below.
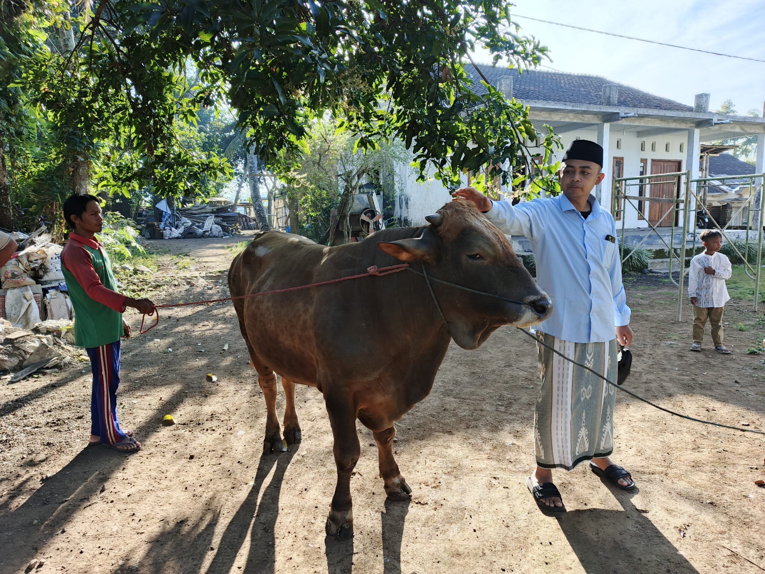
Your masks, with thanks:
M 499 64 L 477 64 L 483 75 L 493 86 L 500 77 L 513 76 L 513 96 L 521 101 L 537 100 L 543 102 L 563 102 L 602 106 L 603 86 L 616 83 L 619 86 L 617 106 L 627 108 L 667 109 L 679 112 L 692 112 L 693 106 L 675 102 L 672 99 L 654 96 L 653 93 L 637 90 L 632 86 L 614 82 L 601 76 L 588 76 L 579 73 L 549 72 L 543 70 L 508 70 Z M 480 85 L 481 77 L 468 64 L 466 70 L 477 84 L 477 93 L 485 93 Z

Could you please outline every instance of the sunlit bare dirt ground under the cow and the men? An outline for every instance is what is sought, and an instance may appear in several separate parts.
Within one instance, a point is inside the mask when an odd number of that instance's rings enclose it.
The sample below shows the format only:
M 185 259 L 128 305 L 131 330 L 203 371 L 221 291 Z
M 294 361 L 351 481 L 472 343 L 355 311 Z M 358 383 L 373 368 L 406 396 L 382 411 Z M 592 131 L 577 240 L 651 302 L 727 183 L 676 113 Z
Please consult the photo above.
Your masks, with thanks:
M 236 241 L 155 242 L 168 254 L 148 281 L 167 284 L 152 298 L 226 296 L 226 246 Z M 666 280 L 629 278 L 627 295 L 630 389 L 691 416 L 765 429 L 763 357 L 745 353 L 762 341 L 765 319 L 750 302 L 728 307 L 734 354 L 724 357 L 710 344 L 688 352 L 691 310 L 675 322 Z M 138 315 L 126 317 L 137 331 Z M 37 572 L 122 574 L 765 568 L 765 489 L 754 485 L 765 479 L 765 436 L 688 422 L 624 394 L 614 458 L 640 490 L 610 488 L 586 465 L 556 471 L 568 512 L 541 514 L 524 484 L 534 466 L 535 347 L 513 328 L 477 351 L 453 344 L 431 395 L 400 421 L 395 448 L 412 501 L 386 501 L 360 426 L 347 542 L 324 535 L 336 475 L 322 397 L 298 387 L 303 442 L 261 455 L 265 404 L 230 303 L 171 309 L 122 348 L 119 417 L 143 443 L 136 455 L 84 448 L 86 362 L 0 385 L 0 572 L 24 572 L 31 559 L 44 561 Z M 178 424 L 161 426 L 166 414 Z

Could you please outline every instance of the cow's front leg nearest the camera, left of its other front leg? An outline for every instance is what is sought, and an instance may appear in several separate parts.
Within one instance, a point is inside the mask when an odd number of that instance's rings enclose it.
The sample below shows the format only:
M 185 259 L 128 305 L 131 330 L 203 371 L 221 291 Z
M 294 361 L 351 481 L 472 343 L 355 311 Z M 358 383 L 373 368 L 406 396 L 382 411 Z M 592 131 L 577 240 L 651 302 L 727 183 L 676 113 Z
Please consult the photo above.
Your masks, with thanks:
M 346 396 L 326 397 L 334 437 L 334 458 L 337 465 L 337 485 L 327 517 L 327 534 L 347 540 L 353 536 L 353 504 L 350 498 L 350 473 L 361 452 L 356 434 L 356 409 Z

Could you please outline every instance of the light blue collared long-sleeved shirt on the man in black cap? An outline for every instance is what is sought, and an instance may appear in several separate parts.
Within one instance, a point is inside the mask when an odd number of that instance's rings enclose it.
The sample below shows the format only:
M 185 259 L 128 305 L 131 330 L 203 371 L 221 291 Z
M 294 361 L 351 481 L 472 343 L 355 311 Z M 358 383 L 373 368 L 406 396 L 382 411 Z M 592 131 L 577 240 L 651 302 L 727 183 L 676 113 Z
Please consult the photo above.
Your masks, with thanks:
M 611 341 L 630 324 L 621 276 L 614 217 L 590 196 L 585 220 L 568 197 L 535 199 L 515 206 L 493 201 L 486 217 L 507 235 L 529 239 L 536 280 L 552 299 L 552 315 L 539 330 L 574 343 Z

